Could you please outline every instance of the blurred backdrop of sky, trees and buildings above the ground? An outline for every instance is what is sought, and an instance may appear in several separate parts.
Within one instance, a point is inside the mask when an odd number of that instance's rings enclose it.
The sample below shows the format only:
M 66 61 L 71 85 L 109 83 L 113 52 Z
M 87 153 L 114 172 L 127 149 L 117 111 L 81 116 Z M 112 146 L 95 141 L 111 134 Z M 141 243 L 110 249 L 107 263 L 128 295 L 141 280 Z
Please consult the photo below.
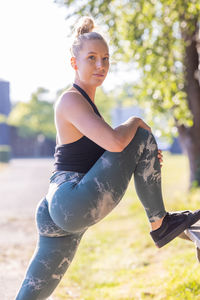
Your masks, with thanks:
M 1 2 L 1 157 L 52 157 L 53 104 L 72 84 L 70 34 L 81 15 L 96 19 L 110 45 L 96 99 L 106 121 L 142 117 L 161 149 L 187 154 L 190 183 L 199 185 L 198 1 Z

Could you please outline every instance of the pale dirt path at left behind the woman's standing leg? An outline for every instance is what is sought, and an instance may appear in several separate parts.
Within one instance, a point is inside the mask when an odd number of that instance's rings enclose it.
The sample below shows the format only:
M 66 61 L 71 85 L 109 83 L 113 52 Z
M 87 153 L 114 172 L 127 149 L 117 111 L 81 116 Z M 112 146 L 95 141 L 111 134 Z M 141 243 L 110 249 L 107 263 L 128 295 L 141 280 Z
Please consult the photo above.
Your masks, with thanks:
M 51 159 L 15 159 L 0 173 L 0 299 L 14 300 L 36 242 L 34 213 Z

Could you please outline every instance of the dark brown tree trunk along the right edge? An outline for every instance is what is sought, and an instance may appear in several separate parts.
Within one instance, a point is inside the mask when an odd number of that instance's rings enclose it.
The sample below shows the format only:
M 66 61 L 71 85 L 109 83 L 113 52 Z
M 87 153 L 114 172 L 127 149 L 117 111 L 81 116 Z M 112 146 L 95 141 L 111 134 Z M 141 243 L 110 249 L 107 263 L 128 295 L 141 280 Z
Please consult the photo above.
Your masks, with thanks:
M 185 46 L 185 91 L 189 109 L 193 115 L 193 126 L 178 127 L 180 142 L 187 153 L 190 164 L 190 184 L 200 186 L 200 77 L 199 77 L 199 48 L 198 22 L 191 34 L 182 32 Z M 199 47 L 199 48 L 198 48 Z M 200 52 L 199 52 L 200 53 Z

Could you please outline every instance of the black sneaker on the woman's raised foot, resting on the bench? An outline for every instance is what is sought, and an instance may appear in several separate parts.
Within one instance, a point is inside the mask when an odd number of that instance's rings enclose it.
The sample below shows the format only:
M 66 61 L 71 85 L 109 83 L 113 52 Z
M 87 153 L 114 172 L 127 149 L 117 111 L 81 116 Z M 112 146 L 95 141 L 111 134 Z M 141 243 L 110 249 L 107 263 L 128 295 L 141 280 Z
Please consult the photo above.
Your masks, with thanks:
M 184 210 L 175 213 L 167 213 L 163 219 L 162 225 L 150 232 L 158 248 L 163 247 L 186 228 L 189 228 L 200 219 L 200 209 L 194 212 Z

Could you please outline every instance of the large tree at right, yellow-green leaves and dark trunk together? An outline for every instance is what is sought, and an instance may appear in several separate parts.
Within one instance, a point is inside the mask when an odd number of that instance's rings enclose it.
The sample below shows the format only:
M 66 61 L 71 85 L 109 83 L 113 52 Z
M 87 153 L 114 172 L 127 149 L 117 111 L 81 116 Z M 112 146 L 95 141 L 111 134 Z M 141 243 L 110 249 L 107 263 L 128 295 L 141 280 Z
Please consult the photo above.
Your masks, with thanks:
M 70 16 L 92 15 L 109 31 L 115 59 L 135 62 L 138 101 L 167 114 L 200 186 L 199 0 L 68 0 Z

